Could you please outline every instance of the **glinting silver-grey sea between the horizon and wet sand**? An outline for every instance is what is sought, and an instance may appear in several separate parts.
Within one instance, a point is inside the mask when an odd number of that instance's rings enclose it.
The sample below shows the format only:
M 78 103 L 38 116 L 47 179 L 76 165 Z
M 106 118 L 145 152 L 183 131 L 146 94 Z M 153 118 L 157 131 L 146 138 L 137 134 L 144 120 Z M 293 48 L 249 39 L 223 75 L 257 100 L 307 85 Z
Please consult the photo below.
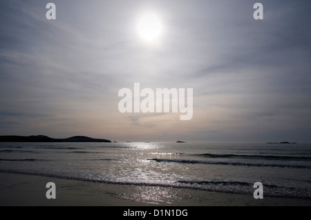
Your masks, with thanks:
M 0 143 L 0 172 L 311 199 L 311 144 Z

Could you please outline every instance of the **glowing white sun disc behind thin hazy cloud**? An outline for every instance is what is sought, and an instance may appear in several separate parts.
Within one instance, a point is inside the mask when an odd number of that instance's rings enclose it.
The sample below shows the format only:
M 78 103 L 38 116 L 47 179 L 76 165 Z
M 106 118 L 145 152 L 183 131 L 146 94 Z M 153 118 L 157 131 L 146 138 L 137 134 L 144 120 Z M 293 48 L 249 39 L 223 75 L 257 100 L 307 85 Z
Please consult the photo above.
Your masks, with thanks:
M 149 43 L 155 42 L 162 34 L 160 19 L 151 12 L 140 17 L 137 28 L 140 37 Z

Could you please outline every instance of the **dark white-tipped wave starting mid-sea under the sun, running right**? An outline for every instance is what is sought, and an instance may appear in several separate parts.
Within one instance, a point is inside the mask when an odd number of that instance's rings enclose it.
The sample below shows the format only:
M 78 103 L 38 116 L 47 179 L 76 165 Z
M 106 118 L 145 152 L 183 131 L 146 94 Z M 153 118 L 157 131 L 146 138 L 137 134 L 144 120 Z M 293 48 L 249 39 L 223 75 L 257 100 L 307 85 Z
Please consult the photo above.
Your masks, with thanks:
M 169 163 L 202 163 L 202 164 L 216 164 L 216 165 L 231 165 L 231 166 L 258 166 L 258 167 L 278 167 L 278 168 L 305 168 L 309 169 L 309 166 L 302 166 L 296 164 L 281 164 L 281 163 L 251 163 L 245 161 L 197 161 L 189 159 L 147 159 L 149 161 L 157 162 L 169 162 Z

